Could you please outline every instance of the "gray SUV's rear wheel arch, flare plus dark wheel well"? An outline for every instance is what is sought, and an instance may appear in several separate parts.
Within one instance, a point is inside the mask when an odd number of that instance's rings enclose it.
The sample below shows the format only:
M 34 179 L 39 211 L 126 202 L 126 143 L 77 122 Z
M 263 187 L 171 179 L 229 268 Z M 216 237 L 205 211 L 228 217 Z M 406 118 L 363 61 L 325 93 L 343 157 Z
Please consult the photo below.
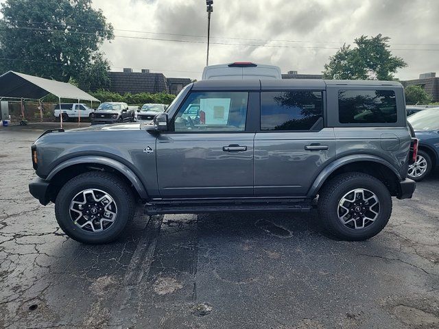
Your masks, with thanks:
M 385 184 L 385 186 L 389 189 L 392 196 L 396 196 L 399 193 L 396 183 L 402 178 L 392 164 L 377 156 L 362 154 L 345 156 L 331 162 L 331 164 L 320 171 L 317 178 L 311 185 L 311 188 L 309 188 L 307 195 L 309 197 L 315 197 L 318 195 L 320 188 L 322 188 L 325 182 L 328 182 L 331 180 L 331 178 L 339 175 L 340 173 L 351 171 L 368 173 L 369 175 L 381 180 L 381 182 L 383 182 L 383 184 Z

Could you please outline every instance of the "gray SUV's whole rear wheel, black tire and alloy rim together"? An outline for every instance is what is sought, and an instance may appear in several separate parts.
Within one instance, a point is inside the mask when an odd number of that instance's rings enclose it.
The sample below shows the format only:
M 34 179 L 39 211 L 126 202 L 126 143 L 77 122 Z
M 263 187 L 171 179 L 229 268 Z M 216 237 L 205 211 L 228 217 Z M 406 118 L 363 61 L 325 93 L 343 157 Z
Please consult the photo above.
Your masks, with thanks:
M 371 195 L 375 195 L 376 199 L 370 199 Z M 355 204 L 348 202 L 354 197 Z M 345 201 L 342 202 L 342 199 Z M 378 204 L 375 204 L 376 200 Z M 355 212 L 357 207 L 359 212 Z M 351 208 L 351 211 L 347 208 Z M 377 178 L 366 173 L 344 173 L 324 184 L 318 197 L 318 212 L 323 228 L 337 239 L 364 241 L 377 235 L 387 225 L 392 214 L 392 197 L 388 188 Z M 374 217 L 375 220 L 365 217 Z

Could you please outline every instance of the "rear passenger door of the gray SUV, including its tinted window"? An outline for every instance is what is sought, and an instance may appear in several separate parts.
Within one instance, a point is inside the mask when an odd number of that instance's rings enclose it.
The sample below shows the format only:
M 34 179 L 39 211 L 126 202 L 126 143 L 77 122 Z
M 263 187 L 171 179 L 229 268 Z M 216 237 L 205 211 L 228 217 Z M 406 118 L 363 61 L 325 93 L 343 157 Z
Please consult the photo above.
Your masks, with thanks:
M 335 158 L 334 130 L 324 127 L 324 97 L 324 90 L 261 91 L 255 196 L 305 196 Z

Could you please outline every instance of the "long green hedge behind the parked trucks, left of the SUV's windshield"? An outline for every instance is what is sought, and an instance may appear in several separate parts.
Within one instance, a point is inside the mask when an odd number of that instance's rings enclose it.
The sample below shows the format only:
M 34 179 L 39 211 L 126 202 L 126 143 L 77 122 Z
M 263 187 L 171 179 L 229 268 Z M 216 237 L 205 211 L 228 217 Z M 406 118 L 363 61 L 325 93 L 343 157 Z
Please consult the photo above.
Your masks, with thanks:
M 128 104 L 144 104 L 144 103 L 163 103 L 170 104 L 171 101 L 176 98 L 175 95 L 167 93 L 125 93 L 123 95 L 119 93 L 112 93 L 108 90 L 97 90 L 95 93 L 90 93 L 100 101 L 123 101 Z

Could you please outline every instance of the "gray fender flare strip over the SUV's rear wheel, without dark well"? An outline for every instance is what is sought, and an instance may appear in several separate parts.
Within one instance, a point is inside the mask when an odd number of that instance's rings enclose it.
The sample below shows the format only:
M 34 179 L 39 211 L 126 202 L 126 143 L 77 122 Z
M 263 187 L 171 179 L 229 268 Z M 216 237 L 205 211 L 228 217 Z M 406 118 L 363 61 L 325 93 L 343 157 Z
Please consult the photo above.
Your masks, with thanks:
M 331 175 L 331 173 L 333 173 L 335 170 L 349 163 L 364 162 L 364 161 L 383 164 L 385 165 L 385 167 L 388 167 L 388 169 L 390 169 L 396 175 L 396 178 L 398 178 L 399 180 L 402 179 L 401 175 L 399 174 L 398 171 L 396 171 L 396 169 L 392 166 L 392 164 L 390 164 L 390 162 L 384 160 L 383 158 L 379 158 L 378 156 L 372 156 L 371 154 L 355 154 L 351 156 L 344 156 L 342 158 L 338 158 L 337 160 L 334 160 L 333 162 L 328 164 L 327 167 L 324 167 L 324 169 L 320 171 L 317 178 L 314 180 L 313 184 L 309 188 L 307 196 L 309 197 L 316 196 L 320 187 L 322 187 L 322 185 L 327 180 L 329 175 Z

